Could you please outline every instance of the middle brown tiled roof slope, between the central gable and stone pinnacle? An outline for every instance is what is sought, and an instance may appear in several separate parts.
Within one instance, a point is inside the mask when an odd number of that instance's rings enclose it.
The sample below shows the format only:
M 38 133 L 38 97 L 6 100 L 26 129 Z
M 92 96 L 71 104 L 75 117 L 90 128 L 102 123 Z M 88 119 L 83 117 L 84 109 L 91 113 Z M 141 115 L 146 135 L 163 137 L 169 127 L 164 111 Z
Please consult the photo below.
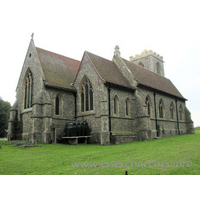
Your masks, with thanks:
M 114 83 L 124 87 L 132 88 L 128 80 L 122 75 L 114 62 L 86 52 L 99 75 L 109 83 Z

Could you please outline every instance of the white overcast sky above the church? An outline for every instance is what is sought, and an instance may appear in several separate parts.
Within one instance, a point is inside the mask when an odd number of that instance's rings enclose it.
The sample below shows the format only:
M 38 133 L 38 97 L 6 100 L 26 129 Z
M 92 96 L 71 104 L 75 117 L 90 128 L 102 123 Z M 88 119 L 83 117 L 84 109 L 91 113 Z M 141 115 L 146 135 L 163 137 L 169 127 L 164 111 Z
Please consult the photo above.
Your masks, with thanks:
M 0 96 L 11 104 L 34 32 L 37 47 L 81 60 L 85 50 L 112 59 L 152 49 L 164 58 L 165 76 L 188 99 L 200 126 L 199 2 L 7 0 L 0 3 Z

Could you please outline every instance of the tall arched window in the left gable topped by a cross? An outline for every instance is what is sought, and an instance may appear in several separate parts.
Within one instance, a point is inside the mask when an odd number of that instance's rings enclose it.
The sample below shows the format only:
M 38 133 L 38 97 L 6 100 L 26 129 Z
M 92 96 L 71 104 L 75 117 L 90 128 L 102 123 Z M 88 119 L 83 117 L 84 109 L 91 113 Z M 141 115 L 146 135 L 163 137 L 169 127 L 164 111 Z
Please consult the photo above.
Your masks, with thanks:
M 33 103 L 33 76 L 31 70 L 27 73 L 24 88 L 24 109 L 31 108 Z

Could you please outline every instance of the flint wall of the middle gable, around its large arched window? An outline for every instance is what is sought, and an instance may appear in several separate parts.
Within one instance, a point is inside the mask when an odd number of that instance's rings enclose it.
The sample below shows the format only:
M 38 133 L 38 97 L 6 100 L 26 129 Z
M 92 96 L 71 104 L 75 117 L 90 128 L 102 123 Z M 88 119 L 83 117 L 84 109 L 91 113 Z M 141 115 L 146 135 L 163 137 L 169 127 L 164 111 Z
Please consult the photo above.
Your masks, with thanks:
M 93 89 L 93 110 L 81 112 L 81 88 L 87 77 Z M 77 90 L 77 119 L 86 120 L 91 128 L 91 143 L 101 143 L 102 123 L 108 131 L 108 93 L 87 55 L 84 56 L 74 87 Z M 101 109 L 100 109 L 101 108 Z

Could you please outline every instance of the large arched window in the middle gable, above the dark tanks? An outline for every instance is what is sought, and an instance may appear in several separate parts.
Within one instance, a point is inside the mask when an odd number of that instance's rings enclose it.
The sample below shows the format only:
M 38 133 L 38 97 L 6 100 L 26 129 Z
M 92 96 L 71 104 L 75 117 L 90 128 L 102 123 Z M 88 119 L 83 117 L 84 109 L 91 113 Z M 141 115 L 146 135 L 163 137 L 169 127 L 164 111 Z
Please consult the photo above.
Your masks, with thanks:
M 81 88 L 81 112 L 93 110 L 93 90 L 89 79 L 82 84 Z

